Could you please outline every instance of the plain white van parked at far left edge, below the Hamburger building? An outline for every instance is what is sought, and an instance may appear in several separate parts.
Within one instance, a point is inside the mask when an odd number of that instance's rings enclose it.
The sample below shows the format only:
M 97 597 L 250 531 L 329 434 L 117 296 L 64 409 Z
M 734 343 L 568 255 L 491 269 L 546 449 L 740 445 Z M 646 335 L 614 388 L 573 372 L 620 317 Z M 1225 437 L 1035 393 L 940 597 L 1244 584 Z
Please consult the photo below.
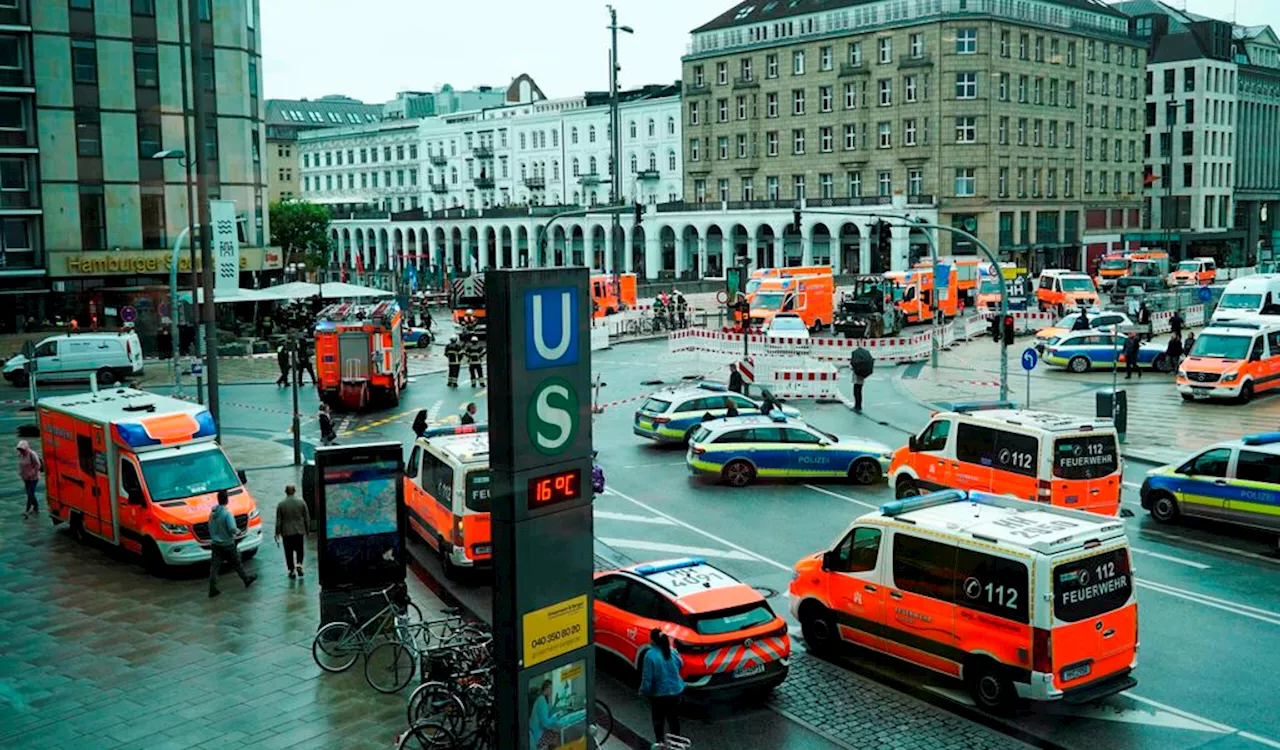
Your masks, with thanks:
M 5 380 L 26 385 L 26 363 L 22 355 L 10 357 Z M 96 374 L 100 385 L 110 385 L 142 375 L 142 343 L 132 331 L 51 335 L 36 344 L 36 372 L 38 383 L 88 380 Z

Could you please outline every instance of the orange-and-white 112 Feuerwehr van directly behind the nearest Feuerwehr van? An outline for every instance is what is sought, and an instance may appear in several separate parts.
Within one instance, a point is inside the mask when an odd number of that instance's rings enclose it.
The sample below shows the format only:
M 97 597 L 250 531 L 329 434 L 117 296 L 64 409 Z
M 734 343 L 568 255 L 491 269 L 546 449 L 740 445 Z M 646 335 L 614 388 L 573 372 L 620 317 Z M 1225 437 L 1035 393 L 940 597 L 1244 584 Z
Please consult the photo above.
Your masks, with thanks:
M 1124 463 L 1111 420 L 991 406 L 960 404 L 911 435 L 890 465 L 896 495 L 954 488 L 1120 512 Z

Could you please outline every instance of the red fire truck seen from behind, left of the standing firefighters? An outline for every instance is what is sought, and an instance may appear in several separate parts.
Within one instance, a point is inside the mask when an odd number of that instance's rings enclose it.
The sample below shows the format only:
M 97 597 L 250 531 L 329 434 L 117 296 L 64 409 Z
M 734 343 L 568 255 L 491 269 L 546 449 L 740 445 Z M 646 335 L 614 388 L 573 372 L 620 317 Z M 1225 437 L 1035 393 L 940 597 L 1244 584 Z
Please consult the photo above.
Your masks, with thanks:
M 315 334 L 320 399 L 352 411 L 372 402 L 397 406 L 408 385 L 403 317 L 392 301 L 321 310 Z

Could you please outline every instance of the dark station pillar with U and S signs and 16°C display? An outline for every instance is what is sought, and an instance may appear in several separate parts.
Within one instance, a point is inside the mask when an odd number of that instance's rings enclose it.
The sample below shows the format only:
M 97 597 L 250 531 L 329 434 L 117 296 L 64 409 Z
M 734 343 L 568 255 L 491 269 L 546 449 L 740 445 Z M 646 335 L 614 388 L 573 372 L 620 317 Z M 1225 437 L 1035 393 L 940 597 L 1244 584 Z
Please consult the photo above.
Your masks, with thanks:
M 497 745 L 532 750 L 536 703 L 567 695 L 559 736 L 586 747 L 595 705 L 588 270 L 493 270 L 485 288 Z

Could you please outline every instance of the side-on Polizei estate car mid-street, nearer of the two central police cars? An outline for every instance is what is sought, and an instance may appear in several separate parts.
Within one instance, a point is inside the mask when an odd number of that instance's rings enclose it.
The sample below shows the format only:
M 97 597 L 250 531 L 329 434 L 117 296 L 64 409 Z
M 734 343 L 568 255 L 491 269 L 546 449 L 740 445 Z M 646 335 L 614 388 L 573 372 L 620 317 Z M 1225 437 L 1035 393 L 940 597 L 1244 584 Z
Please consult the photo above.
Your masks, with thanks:
M 758 477 L 847 477 L 858 484 L 884 479 L 893 452 L 863 438 L 837 436 L 786 415 L 731 417 L 703 424 L 685 462 L 694 474 L 732 486 Z

